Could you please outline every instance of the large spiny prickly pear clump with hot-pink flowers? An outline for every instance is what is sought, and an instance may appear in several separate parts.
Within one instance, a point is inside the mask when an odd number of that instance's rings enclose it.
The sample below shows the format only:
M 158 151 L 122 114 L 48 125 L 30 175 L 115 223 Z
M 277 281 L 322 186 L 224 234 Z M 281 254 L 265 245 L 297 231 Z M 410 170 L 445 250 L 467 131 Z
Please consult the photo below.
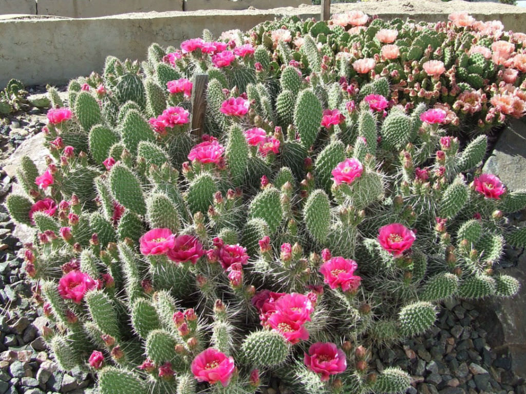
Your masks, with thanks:
M 430 329 L 443 299 L 519 290 L 494 266 L 526 246 L 503 217 L 526 191 L 477 168 L 485 136 L 460 151 L 445 111 L 397 105 L 392 80 L 331 57 L 350 40 L 372 56 L 388 23 L 277 23 L 108 57 L 70 82 L 69 108 L 49 91 L 48 167 L 25 157 L 7 208 L 36 230 L 25 268 L 49 347 L 102 394 L 247 393 L 271 376 L 297 393 L 403 392 L 410 376 L 375 371 L 373 347 Z M 437 34 L 399 37 L 404 58 L 433 54 Z

